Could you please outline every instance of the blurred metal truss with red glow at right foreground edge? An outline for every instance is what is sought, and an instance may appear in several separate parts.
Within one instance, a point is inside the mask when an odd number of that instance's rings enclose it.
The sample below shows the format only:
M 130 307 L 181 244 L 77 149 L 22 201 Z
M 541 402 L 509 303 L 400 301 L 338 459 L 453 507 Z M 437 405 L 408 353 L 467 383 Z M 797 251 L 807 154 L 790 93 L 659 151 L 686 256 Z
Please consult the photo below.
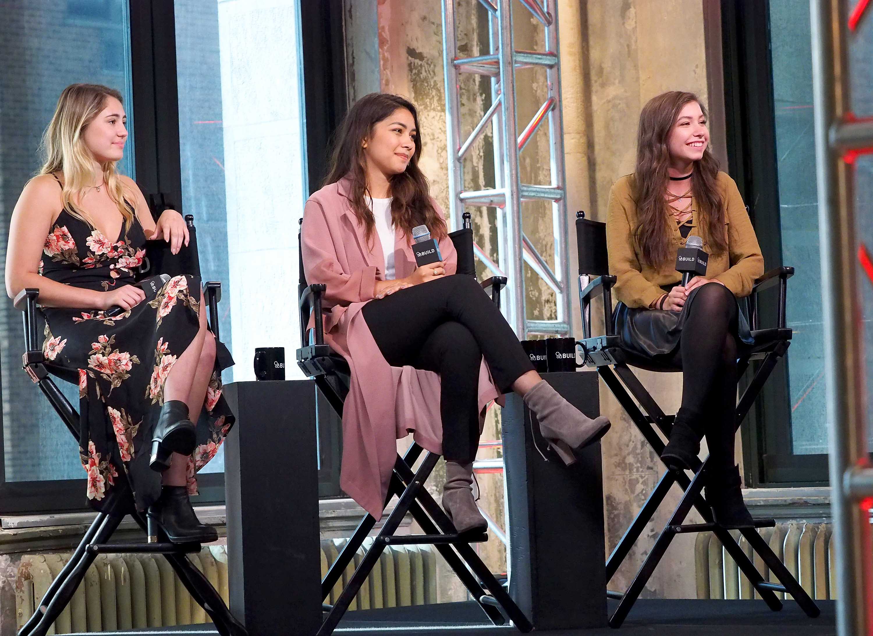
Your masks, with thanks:
M 868 7 L 856 0 L 810 0 L 812 8 L 815 163 L 821 236 L 825 372 L 834 520 L 836 628 L 840 636 L 873 633 L 870 508 L 873 468 L 867 444 L 863 329 L 856 261 L 854 163 L 873 153 L 873 119 L 858 120 L 849 99 L 849 31 Z M 870 19 L 870 16 L 866 19 Z M 873 269 L 873 268 L 871 268 Z

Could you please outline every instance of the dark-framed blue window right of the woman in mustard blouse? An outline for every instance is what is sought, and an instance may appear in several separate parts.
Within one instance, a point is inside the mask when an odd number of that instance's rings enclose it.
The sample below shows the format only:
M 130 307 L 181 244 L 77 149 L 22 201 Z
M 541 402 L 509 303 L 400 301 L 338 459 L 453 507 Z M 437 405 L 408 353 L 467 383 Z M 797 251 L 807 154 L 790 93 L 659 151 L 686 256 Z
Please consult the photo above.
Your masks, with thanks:
M 722 10 L 731 171 L 750 206 L 767 268 L 795 268 L 787 296 L 794 339 L 750 414 L 746 469 L 757 484 L 826 482 L 827 384 L 809 10 L 794 0 L 725 1 Z M 871 23 L 868 16 L 850 38 L 852 105 L 859 117 L 873 114 Z M 846 246 L 852 254 L 860 243 L 873 244 L 873 161 L 862 157 L 856 168 L 858 243 Z M 873 281 L 860 267 L 859 272 L 869 347 Z M 773 294 L 764 306 L 771 321 L 775 302 Z

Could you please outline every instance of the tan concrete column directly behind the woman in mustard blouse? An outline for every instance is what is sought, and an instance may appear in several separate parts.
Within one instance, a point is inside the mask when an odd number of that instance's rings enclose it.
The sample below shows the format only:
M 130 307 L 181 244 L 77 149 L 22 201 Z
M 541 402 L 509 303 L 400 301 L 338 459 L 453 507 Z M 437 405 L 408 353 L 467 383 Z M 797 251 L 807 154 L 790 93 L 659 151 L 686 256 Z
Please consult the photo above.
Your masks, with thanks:
M 590 126 L 588 180 L 591 215 L 606 220 L 609 188 L 623 174 L 634 170 L 636 127 L 640 110 L 656 94 L 669 90 L 697 92 L 707 99 L 704 16 L 700 0 L 630 0 L 624 3 L 581 3 L 584 31 L 578 42 L 588 66 Z M 681 26 L 680 26 L 681 25 Z M 687 37 L 674 38 L 678 31 Z M 563 38 L 570 44 L 573 40 Z M 575 55 L 562 50 L 564 64 Z M 565 73 L 566 75 L 566 73 Z M 572 81 L 572 80 L 570 80 Z M 565 81 L 564 91 L 571 90 Z M 566 99 L 565 99 L 566 102 Z M 566 106 L 565 106 L 566 107 Z M 565 114 L 565 122 L 570 121 Z M 565 123 L 566 126 L 566 123 Z M 578 154 L 567 157 L 567 174 L 582 174 L 586 165 Z M 572 182 L 569 178 L 567 181 Z M 582 181 L 581 179 L 579 181 Z M 666 413 L 675 413 L 682 399 L 681 374 L 639 372 L 643 384 Z M 663 467 L 612 394 L 601 385 L 601 412 L 613 421 L 603 439 L 604 507 L 607 550 L 622 533 L 654 489 Z M 639 543 L 613 578 L 611 589 L 622 589 L 636 574 L 656 533 L 663 528 L 679 492 L 671 493 L 663 508 L 643 532 Z M 680 536 L 655 571 L 643 596 L 693 598 L 693 536 Z

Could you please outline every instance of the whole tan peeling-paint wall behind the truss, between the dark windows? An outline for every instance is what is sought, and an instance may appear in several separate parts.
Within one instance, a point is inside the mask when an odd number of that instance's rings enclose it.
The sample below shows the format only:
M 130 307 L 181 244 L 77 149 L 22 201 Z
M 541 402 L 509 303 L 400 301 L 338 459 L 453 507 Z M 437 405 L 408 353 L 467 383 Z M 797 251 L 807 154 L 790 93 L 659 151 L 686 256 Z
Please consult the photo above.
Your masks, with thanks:
M 431 193 L 448 209 L 446 115 L 443 93 L 443 24 L 441 3 L 412 0 L 378 0 L 379 83 L 384 92 L 397 92 L 419 109 L 423 136 L 422 168 L 430 178 Z M 457 40 L 461 55 L 487 52 L 487 14 L 476 0 L 456 0 Z M 517 49 L 544 50 L 542 27 L 520 4 L 514 3 L 514 38 Z M 571 243 L 570 272 L 574 296 L 574 332 L 581 335 L 574 245 L 575 211 L 602 220 L 609 188 L 622 174 L 633 170 L 636 122 L 640 108 L 658 92 L 681 89 L 707 95 L 704 15 L 702 0 L 560 0 L 560 57 L 567 183 L 567 214 Z M 349 55 L 354 57 L 354 51 Z M 463 76 L 461 82 L 462 138 L 470 133 L 491 104 L 487 78 Z M 518 126 L 523 129 L 546 99 L 546 73 L 541 69 L 517 74 Z M 465 188 L 494 184 L 490 127 L 465 161 Z M 718 139 L 714 140 L 718 143 Z M 526 183 L 549 182 L 549 140 L 546 127 L 533 138 L 520 157 L 520 174 Z M 496 256 L 496 210 L 468 208 L 473 216 L 477 242 Z M 525 231 L 548 262 L 553 257 L 551 205 L 524 204 Z M 482 273 L 482 272 L 480 272 Z M 529 318 L 553 318 L 552 291 L 526 268 Z M 595 308 L 596 311 L 596 308 Z M 677 374 L 644 374 L 663 408 L 678 407 L 681 397 Z M 498 409 L 493 409 L 498 411 Z M 629 525 L 654 488 L 660 463 L 650 452 L 627 416 L 605 388 L 601 412 L 614 422 L 603 441 L 604 494 L 608 551 Z M 483 439 L 499 438 L 498 414 L 491 414 Z M 482 451 L 480 457 L 496 451 Z M 438 475 L 430 488 L 440 491 Z M 503 525 L 504 503 L 499 475 L 479 479 L 484 508 Z M 629 583 L 650 550 L 656 533 L 666 522 L 670 504 L 650 524 L 618 572 L 611 587 Z M 694 597 L 693 537 L 677 537 L 662 564 L 650 579 L 643 596 Z M 485 562 L 495 571 L 505 569 L 505 551 L 495 539 L 481 545 Z M 463 590 L 450 573 L 441 588 L 441 600 L 463 598 Z

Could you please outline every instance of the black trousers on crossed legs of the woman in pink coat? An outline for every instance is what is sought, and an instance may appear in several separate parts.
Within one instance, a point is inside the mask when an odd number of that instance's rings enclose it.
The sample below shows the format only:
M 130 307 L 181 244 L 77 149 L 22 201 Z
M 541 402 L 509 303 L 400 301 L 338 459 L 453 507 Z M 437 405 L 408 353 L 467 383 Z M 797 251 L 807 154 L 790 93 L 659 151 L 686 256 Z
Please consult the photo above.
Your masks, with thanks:
M 371 300 L 362 313 L 389 365 L 439 373 L 443 455 L 471 462 L 479 443 L 483 356 L 502 393 L 533 370 L 497 305 L 475 278 L 455 274 Z

